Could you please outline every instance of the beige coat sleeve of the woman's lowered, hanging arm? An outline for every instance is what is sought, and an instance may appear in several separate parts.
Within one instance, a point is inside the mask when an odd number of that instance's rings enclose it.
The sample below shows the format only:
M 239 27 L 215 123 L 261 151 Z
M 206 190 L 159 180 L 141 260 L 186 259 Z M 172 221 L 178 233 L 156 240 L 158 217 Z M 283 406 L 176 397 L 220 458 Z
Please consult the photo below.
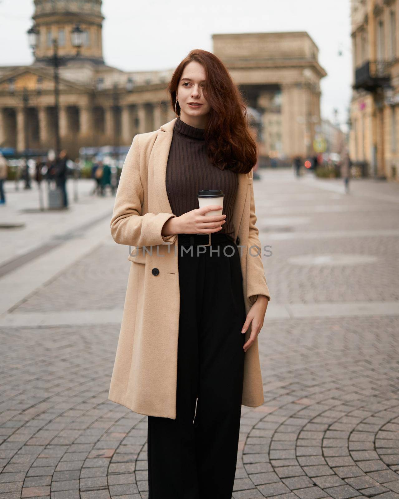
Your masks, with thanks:
M 251 178 L 253 172 L 251 170 Z M 249 208 L 249 237 L 248 237 L 248 253 L 246 257 L 246 275 L 247 287 L 246 295 L 250 303 L 253 305 L 258 297 L 258 294 L 267 296 L 270 300 L 270 291 L 267 286 L 264 267 L 262 263 L 262 247 L 259 241 L 259 231 L 256 227 L 255 215 L 255 199 L 253 195 L 253 180 L 251 183 L 251 201 Z

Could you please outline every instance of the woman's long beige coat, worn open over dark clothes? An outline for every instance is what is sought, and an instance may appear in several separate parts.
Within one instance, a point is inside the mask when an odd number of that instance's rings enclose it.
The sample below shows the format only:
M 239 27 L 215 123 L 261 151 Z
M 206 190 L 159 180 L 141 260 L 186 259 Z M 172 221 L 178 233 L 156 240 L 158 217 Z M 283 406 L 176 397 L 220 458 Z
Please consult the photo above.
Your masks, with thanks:
M 177 353 L 180 313 L 178 236 L 162 236 L 172 214 L 166 168 L 176 118 L 159 130 L 136 135 L 116 193 L 111 234 L 129 245 L 126 298 L 109 400 L 148 416 L 176 419 Z M 258 294 L 270 298 L 255 226 L 253 175 L 238 174 L 233 211 L 239 237 L 245 310 Z M 256 245 L 256 248 L 250 248 Z M 134 248 L 136 247 L 136 248 Z M 146 247 L 143 249 L 143 247 Z M 152 248 L 151 248 L 152 247 Z M 152 250 L 152 254 L 151 254 Z M 251 256 L 251 253 L 255 256 Z M 137 255 L 136 255 L 137 254 Z M 158 269 L 152 272 L 154 269 Z M 245 333 L 249 338 L 251 328 Z M 264 402 L 257 338 L 245 353 L 242 404 Z

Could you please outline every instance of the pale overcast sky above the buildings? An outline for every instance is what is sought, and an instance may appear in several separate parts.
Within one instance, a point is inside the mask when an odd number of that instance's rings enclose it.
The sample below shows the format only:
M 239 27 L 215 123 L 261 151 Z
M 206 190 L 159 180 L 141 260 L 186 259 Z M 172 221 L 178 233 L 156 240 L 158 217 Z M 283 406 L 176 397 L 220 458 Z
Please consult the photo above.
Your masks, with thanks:
M 32 62 L 26 30 L 33 0 L 0 0 L 0 65 Z M 327 72 L 322 117 L 347 120 L 351 96 L 350 0 L 103 0 L 105 62 L 123 70 L 175 68 L 213 33 L 307 31 Z M 342 55 L 338 52 L 342 51 Z

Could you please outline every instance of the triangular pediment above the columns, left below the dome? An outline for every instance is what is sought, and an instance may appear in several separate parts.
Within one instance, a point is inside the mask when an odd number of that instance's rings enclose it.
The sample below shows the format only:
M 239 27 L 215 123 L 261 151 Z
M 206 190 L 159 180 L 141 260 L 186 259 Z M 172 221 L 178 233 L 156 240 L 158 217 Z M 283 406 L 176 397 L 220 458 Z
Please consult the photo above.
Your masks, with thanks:
M 24 88 L 28 91 L 53 92 L 54 77 L 52 70 L 34 67 L 21 67 L 13 69 L 8 73 L 3 73 L 0 77 L 0 92 L 13 91 L 20 92 Z M 75 82 L 59 78 L 60 92 L 87 92 L 89 87 Z

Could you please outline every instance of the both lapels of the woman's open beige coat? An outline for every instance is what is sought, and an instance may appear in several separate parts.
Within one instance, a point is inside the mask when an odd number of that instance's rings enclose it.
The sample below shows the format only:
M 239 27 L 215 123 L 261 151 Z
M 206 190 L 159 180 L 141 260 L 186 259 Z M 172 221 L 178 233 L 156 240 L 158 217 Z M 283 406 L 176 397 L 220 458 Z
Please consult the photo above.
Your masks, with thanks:
M 166 192 L 166 168 L 176 120 L 177 118 L 174 118 L 169 123 L 161 126 L 152 150 L 154 189 L 162 213 L 172 213 L 168 193 Z M 248 192 L 248 178 L 249 174 L 238 174 L 238 187 L 233 211 L 234 241 L 237 239 L 239 226 L 244 213 L 245 199 Z

